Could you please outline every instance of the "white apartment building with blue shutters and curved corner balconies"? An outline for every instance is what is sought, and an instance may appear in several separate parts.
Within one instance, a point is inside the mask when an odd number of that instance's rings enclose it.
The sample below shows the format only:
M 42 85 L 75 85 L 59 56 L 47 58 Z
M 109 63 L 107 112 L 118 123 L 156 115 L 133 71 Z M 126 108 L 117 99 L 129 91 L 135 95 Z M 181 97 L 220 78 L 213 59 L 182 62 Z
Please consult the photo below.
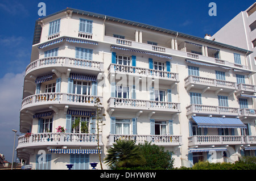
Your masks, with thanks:
M 96 98 L 102 160 L 118 139 L 164 146 L 175 167 L 255 155 L 250 53 L 72 8 L 36 20 L 20 110 L 20 132 L 31 136 L 19 137 L 18 157 L 33 169 L 92 169 Z M 88 133 L 72 128 L 77 117 Z

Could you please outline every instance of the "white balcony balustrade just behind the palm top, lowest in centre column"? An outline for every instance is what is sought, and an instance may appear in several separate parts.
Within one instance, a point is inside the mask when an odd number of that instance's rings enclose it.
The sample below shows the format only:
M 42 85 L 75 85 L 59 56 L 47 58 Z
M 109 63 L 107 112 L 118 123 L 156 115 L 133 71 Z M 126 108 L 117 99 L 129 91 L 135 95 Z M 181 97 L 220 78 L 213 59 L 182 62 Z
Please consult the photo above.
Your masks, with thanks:
M 140 135 L 140 134 L 110 134 L 108 146 L 112 146 L 117 140 L 133 140 L 136 144 L 144 144 L 145 141 L 155 145 L 177 146 L 182 145 L 181 136 L 175 135 Z

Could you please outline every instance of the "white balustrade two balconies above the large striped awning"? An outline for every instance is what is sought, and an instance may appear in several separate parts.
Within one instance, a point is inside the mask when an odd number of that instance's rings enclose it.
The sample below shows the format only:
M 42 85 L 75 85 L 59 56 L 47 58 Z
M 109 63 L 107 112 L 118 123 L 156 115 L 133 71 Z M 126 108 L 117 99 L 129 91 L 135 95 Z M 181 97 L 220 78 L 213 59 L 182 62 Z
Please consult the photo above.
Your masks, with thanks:
M 195 75 L 189 75 L 184 79 L 185 86 L 189 83 L 195 83 L 205 86 L 214 86 L 214 87 L 228 87 L 229 89 L 237 89 L 237 83 L 236 82 L 230 82 L 230 81 L 223 81 L 213 78 L 205 78 L 205 77 L 199 77 Z

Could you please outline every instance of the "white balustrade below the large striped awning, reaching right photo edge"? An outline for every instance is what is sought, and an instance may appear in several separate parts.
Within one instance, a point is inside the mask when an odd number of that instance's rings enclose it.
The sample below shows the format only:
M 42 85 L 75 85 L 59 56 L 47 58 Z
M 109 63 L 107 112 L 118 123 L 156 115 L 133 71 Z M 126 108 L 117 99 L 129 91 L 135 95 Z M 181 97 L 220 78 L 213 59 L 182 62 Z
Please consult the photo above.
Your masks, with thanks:
M 195 145 L 240 145 L 256 144 L 256 136 L 191 136 L 188 137 L 188 146 Z

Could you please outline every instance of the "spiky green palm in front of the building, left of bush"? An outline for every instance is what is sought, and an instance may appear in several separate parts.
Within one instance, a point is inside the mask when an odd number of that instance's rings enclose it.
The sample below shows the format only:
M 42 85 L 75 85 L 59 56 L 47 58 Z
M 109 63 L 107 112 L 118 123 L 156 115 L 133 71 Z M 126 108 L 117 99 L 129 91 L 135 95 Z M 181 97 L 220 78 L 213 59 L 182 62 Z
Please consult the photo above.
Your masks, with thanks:
M 133 167 L 146 162 L 139 146 L 131 140 L 117 140 L 108 150 L 104 161 L 113 167 Z

